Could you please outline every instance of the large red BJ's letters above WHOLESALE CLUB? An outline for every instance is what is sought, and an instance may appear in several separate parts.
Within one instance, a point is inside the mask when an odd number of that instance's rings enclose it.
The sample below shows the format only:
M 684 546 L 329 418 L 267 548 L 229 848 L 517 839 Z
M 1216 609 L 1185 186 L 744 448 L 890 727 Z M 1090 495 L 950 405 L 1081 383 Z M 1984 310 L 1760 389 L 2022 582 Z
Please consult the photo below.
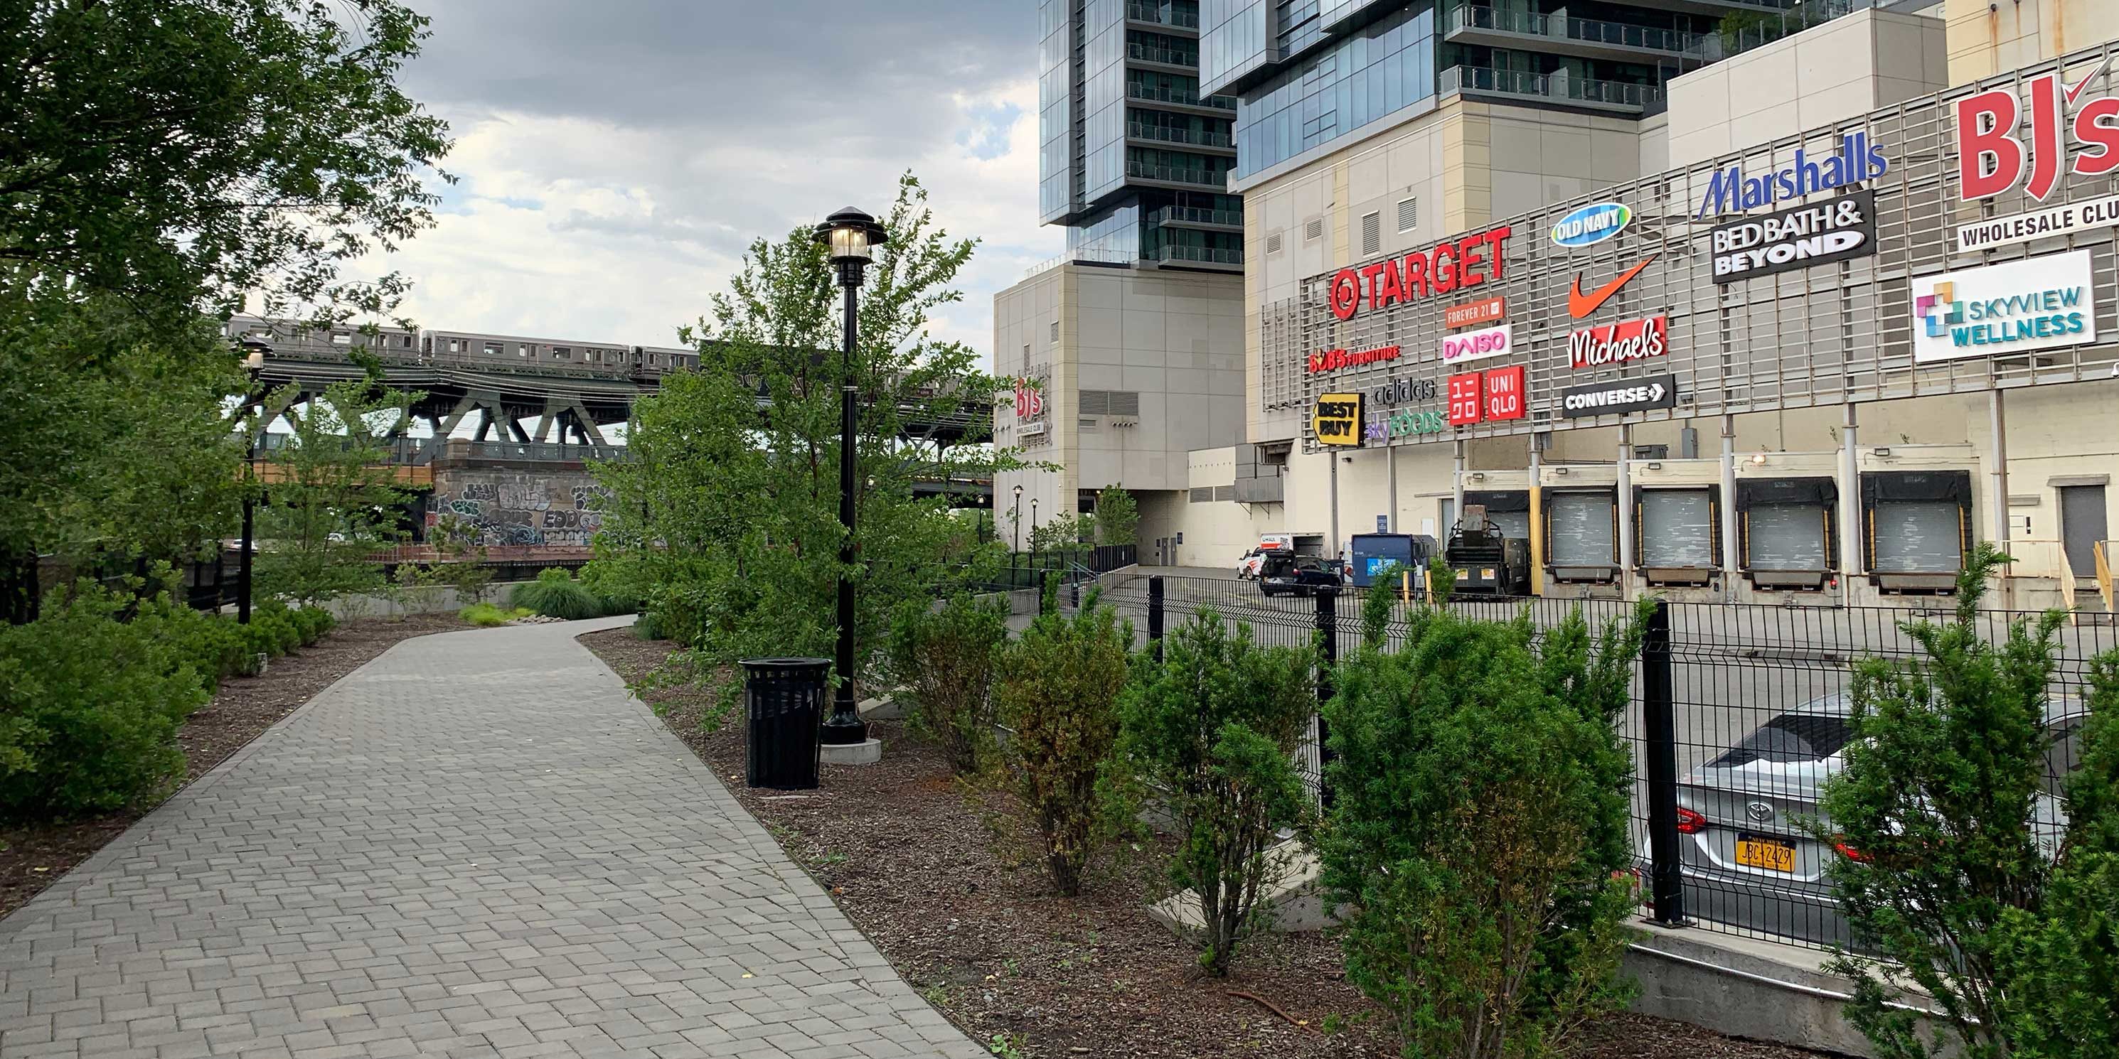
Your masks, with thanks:
M 2077 176 L 2119 169 L 2119 97 L 2081 102 L 2106 66 L 2111 59 L 2075 83 L 2060 72 L 2038 74 L 2024 83 L 2022 97 L 2007 87 L 1958 100 L 1958 197 L 1992 199 L 2024 184 L 2045 201 L 2060 186 L 2062 165 Z

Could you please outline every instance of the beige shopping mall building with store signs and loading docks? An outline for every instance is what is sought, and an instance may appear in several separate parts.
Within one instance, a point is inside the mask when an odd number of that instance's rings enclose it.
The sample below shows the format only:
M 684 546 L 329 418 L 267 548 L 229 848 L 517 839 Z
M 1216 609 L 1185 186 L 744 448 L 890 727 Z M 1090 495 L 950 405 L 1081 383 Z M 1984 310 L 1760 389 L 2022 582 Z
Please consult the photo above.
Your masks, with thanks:
M 1265 532 L 1443 538 L 1479 504 L 1530 540 L 1545 595 L 1918 602 L 1979 540 L 2017 557 L 2015 606 L 2096 595 L 2119 466 L 2119 4 L 1841 2 L 1858 11 L 1668 78 L 1613 66 L 1640 40 L 1564 13 L 1322 6 L 1305 38 L 1274 32 L 1290 4 L 1201 4 L 1199 91 L 1237 102 L 1242 322 L 1197 294 L 1197 341 L 1155 356 L 1225 366 L 1237 330 L 1242 385 L 1140 405 L 1210 398 L 1195 424 L 1242 428 L 1142 460 L 1144 561 L 1231 566 Z M 1526 68 L 1509 32 L 1547 70 L 1492 76 Z M 1352 76 L 1407 53 L 1456 66 Z M 1358 106 L 1420 76 L 1437 89 Z M 1038 345 L 1049 434 L 1096 430 L 1076 364 L 1123 371 L 1129 330 L 1174 305 L 1129 284 L 1189 280 L 1055 271 L 996 297 L 996 341 L 1026 362 Z M 1070 303 L 1081 280 L 1110 309 Z M 1123 455 L 1093 474 L 1053 455 L 1072 477 L 1021 477 L 1047 510 L 1134 485 Z

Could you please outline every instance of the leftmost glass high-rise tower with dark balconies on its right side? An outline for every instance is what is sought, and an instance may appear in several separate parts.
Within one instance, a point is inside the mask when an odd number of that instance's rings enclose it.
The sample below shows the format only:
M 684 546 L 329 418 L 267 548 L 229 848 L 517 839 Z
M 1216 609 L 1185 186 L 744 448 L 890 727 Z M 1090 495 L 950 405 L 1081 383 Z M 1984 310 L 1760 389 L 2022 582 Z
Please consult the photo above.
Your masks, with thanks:
M 1068 258 L 1240 271 L 1233 95 L 1199 93 L 1199 0 L 1038 0 L 1038 216 Z

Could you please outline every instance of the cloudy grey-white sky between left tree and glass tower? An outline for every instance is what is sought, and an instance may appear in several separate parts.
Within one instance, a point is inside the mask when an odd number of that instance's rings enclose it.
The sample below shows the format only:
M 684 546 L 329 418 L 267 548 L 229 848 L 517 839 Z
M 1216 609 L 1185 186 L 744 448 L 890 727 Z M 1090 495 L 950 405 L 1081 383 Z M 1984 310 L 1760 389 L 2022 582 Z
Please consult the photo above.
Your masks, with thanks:
M 456 138 L 439 225 L 362 263 L 426 328 L 674 345 L 754 237 L 890 208 L 979 250 L 937 339 L 992 352 L 1036 222 L 1036 0 L 413 0 Z

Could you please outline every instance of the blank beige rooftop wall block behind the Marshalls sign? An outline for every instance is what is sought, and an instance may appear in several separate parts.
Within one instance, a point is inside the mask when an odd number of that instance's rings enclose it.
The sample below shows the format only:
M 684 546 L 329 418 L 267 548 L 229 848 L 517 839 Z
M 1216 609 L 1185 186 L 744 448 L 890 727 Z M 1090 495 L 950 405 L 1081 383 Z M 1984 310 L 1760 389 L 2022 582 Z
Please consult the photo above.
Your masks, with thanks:
M 1765 85 L 1771 89 L 1761 89 Z M 1943 19 L 1856 11 L 1674 78 L 1668 167 L 1797 136 L 1945 87 Z

